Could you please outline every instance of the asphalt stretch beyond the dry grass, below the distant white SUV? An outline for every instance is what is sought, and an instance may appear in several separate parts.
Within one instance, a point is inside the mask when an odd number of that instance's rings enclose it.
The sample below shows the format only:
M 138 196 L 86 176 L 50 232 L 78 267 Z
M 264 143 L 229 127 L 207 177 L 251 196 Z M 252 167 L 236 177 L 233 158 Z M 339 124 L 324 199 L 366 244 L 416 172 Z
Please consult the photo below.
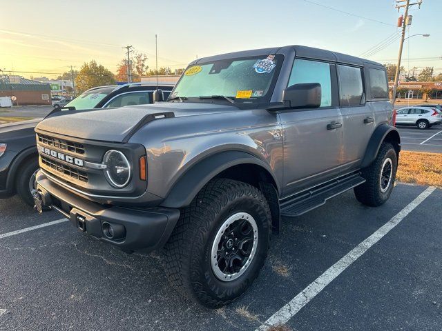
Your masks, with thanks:
M 442 125 L 419 130 L 415 126 L 398 126 L 403 150 L 442 153 Z

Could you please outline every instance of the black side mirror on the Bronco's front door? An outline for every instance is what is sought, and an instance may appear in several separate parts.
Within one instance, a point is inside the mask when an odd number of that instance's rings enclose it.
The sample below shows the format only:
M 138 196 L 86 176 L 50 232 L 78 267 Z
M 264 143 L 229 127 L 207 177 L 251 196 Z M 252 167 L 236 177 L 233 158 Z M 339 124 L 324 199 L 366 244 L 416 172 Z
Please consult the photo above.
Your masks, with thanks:
M 319 108 L 320 83 L 302 83 L 289 86 L 282 92 L 282 101 L 287 101 L 290 108 Z

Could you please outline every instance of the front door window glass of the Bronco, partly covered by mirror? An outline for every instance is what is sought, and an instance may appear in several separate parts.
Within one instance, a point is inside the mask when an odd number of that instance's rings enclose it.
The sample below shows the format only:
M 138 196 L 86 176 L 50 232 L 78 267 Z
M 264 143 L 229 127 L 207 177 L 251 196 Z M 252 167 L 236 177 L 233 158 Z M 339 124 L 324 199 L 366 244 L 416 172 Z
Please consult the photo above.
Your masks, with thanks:
M 332 106 L 332 80 L 329 63 L 296 59 L 291 69 L 288 86 L 301 83 L 320 83 L 320 107 Z

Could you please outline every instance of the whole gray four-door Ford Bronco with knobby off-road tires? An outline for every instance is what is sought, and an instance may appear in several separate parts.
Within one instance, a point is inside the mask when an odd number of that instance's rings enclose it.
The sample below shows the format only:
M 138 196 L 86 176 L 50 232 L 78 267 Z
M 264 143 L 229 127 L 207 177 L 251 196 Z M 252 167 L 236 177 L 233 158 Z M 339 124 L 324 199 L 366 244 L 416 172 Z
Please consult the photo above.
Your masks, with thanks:
M 167 101 L 35 131 L 36 209 L 126 252 L 164 248 L 171 284 L 209 308 L 253 283 L 281 217 L 350 189 L 385 203 L 401 148 L 383 66 L 304 46 L 198 59 Z

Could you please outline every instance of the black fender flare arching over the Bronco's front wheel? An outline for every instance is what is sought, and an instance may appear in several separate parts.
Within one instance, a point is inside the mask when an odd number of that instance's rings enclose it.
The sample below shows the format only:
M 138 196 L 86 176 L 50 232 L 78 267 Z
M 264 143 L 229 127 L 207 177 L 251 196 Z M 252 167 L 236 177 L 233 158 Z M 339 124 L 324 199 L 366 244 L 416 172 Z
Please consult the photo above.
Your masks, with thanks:
M 242 151 L 225 151 L 212 154 L 193 165 L 189 170 L 184 172 L 175 182 L 171 190 L 161 203 L 162 207 L 182 208 L 189 205 L 196 194 L 200 192 L 206 183 L 220 172 L 239 164 L 260 165 L 267 170 L 273 181 L 278 185 L 278 181 L 270 168 L 270 166 L 252 154 Z M 279 188 L 276 190 L 279 192 Z

